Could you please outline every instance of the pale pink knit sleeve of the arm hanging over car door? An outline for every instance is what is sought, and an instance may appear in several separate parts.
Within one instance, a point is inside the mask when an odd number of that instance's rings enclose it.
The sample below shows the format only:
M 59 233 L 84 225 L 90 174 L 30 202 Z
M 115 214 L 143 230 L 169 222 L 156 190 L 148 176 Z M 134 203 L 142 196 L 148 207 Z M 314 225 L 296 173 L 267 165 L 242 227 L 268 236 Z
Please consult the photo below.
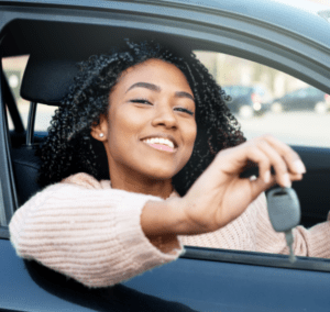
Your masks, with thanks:
M 15 212 L 9 225 L 11 242 L 19 256 L 85 286 L 116 285 L 175 260 L 183 252 L 182 245 L 176 249 L 178 242 L 162 246 L 144 235 L 140 215 L 148 200 L 162 199 L 116 189 L 53 185 Z

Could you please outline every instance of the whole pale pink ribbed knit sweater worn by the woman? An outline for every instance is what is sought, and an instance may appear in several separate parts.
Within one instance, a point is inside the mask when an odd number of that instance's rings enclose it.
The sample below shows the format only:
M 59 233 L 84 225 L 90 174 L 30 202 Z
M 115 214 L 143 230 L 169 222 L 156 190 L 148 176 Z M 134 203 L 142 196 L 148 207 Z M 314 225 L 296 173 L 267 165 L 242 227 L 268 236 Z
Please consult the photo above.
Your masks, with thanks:
M 184 252 L 182 245 L 287 253 L 284 234 L 270 223 L 264 194 L 227 226 L 178 237 L 180 249 L 145 237 L 140 215 L 148 200 L 162 199 L 111 189 L 109 180 L 77 174 L 45 188 L 15 212 L 9 225 L 11 242 L 19 256 L 88 287 L 111 286 L 173 261 Z M 295 254 L 329 258 L 329 225 L 298 226 Z

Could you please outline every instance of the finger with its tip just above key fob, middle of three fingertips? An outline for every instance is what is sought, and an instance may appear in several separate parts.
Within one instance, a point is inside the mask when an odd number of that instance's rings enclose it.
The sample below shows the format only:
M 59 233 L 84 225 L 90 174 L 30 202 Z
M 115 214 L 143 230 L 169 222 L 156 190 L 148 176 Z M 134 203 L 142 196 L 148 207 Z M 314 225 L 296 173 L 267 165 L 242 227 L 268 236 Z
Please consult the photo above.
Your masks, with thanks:
M 276 151 L 267 141 L 258 141 L 257 146 L 267 157 L 275 170 L 275 180 L 282 187 L 289 188 L 292 186 L 290 176 L 288 172 L 288 167 L 284 158 L 280 156 L 278 151 Z

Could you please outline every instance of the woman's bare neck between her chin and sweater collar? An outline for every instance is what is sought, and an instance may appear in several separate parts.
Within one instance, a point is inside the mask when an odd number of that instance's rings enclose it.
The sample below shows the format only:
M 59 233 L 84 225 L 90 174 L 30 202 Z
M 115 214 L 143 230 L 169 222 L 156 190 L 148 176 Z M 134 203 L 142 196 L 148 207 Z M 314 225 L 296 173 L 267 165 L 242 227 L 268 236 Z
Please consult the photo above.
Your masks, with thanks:
M 130 171 L 128 175 L 110 170 L 111 187 L 113 189 L 125 190 L 151 194 L 166 199 L 173 192 L 172 179 L 154 179 Z

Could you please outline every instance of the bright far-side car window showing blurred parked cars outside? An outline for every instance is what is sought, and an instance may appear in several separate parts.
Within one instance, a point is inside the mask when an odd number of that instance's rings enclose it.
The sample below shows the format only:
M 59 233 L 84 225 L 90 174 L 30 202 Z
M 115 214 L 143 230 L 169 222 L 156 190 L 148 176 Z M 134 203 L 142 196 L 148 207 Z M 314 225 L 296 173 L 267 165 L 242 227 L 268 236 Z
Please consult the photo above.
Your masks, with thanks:
M 195 52 L 232 100 L 246 138 L 271 133 L 290 145 L 330 147 L 330 96 L 271 67 Z M 317 126 L 316 126 L 317 125 Z

